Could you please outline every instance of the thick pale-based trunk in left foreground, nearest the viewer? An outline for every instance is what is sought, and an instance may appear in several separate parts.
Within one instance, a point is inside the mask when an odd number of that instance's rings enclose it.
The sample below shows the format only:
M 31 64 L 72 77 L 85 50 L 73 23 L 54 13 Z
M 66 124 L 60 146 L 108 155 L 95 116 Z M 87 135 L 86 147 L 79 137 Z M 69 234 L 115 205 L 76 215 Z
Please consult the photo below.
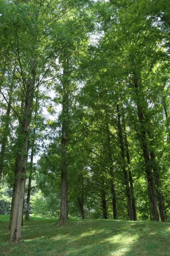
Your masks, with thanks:
M 31 62 L 33 67 L 33 61 Z M 22 117 L 22 129 L 20 132 L 20 145 L 19 145 L 19 157 L 17 165 L 17 178 L 15 186 L 15 196 L 13 204 L 13 213 L 11 220 L 11 232 L 9 243 L 17 243 L 21 241 L 21 220 L 24 198 L 24 187 L 26 177 L 26 162 L 27 162 L 27 147 L 29 136 L 29 124 L 31 121 L 31 107 L 33 100 L 33 87 L 35 83 L 34 69 L 32 72 L 33 78 L 30 78 L 26 84 L 25 105 Z

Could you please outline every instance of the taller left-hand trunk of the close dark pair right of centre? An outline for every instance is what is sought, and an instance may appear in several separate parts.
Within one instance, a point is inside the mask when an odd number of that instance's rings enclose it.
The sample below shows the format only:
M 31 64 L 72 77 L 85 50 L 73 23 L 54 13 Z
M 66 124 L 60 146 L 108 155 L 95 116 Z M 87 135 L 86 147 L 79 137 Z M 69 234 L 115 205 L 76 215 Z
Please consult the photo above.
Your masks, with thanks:
M 121 156 L 122 156 L 122 169 L 124 172 L 125 178 L 125 185 L 126 185 L 126 194 L 128 198 L 128 213 L 129 213 L 129 220 L 133 220 L 133 208 L 132 208 L 132 200 L 129 188 L 129 179 L 128 179 L 128 172 L 127 172 L 127 164 L 125 159 L 125 152 L 124 152 L 124 145 L 123 145 L 123 137 L 122 137 L 122 126 L 121 126 L 121 119 L 120 119 L 120 112 L 119 112 L 119 105 L 117 104 L 117 117 L 118 117 L 118 128 L 119 128 L 119 138 L 120 138 L 120 146 L 121 146 Z

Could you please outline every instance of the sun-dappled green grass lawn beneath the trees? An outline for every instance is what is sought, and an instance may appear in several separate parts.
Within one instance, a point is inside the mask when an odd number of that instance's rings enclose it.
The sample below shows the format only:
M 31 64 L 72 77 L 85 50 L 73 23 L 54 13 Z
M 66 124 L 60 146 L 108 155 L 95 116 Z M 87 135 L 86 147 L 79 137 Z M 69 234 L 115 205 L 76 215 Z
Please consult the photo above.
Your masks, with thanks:
M 1 256 L 170 256 L 170 223 L 125 220 L 24 221 L 22 242 L 8 244 L 9 216 L 0 215 Z

